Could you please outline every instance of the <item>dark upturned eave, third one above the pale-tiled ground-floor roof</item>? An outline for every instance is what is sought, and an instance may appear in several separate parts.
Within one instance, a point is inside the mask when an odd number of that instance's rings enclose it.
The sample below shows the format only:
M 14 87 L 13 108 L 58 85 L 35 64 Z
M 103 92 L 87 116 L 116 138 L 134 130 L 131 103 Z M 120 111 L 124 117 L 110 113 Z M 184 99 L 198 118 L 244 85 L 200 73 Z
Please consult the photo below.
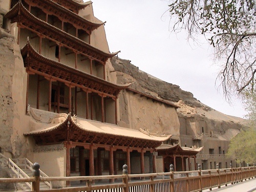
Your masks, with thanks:
M 69 9 L 60 6 L 52 0 L 25 0 L 25 2 L 31 6 L 40 8 L 45 13 L 55 15 L 60 20 L 70 23 L 78 29 L 85 30 L 88 34 L 91 34 L 93 30 L 97 29 L 105 23 L 91 22 L 90 20 L 79 16 L 78 14 L 70 11 Z

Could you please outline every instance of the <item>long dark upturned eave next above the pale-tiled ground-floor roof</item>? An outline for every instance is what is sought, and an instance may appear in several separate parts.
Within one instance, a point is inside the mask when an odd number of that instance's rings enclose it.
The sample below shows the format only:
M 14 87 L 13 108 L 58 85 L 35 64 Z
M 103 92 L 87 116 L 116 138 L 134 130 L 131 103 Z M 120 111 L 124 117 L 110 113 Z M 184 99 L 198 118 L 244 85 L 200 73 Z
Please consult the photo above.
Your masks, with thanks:
M 113 97 L 117 96 L 121 90 L 130 85 L 119 86 L 44 57 L 33 49 L 29 40 L 26 46 L 22 48 L 21 53 L 24 59 L 24 65 L 27 67 L 28 71 L 49 76 L 56 80 L 74 83 L 75 86 L 81 89 L 97 92 L 99 94 L 104 93 L 106 96 Z

